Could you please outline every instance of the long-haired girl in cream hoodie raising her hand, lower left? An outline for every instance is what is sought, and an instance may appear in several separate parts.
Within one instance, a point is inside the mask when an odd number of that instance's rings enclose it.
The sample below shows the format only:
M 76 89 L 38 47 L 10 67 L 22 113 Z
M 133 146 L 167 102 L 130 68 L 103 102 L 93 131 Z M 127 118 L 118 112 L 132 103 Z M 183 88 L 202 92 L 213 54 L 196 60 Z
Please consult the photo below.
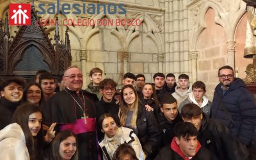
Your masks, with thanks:
M 44 136 L 42 113 L 34 104 L 22 104 L 13 114 L 13 124 L 0 131 L 0 159 L 43 159 L 44 141 L 54 138 L 56 124 Z

